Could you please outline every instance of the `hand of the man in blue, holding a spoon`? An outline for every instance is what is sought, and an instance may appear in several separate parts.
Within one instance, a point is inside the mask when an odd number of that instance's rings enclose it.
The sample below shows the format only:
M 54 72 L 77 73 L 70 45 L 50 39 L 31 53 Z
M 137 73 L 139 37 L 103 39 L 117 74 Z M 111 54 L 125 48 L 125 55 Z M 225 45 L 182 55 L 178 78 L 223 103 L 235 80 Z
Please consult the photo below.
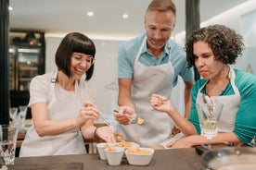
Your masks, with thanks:
M 118 112 L 114 112 L 114 116 L 122 125 L 129 125 L 130 120 L 137 117 L 134 108 L 130 106 L 121 106 Z

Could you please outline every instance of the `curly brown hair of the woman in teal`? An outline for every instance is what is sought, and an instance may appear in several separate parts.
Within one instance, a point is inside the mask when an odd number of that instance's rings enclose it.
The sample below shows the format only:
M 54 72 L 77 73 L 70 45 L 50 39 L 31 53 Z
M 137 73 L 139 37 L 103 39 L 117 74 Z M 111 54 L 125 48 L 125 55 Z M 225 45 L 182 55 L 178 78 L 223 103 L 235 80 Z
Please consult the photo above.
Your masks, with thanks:
M 242 55 L 244 43 L 242 36 L 224 25 L 211 25 L 194 30 L 186 40 L 186 60 L 188 67 L 195 67 L 193 44 L 202 41 L 209 44 L 216 60 L 224 64 L 235 64 L 238 55 Z

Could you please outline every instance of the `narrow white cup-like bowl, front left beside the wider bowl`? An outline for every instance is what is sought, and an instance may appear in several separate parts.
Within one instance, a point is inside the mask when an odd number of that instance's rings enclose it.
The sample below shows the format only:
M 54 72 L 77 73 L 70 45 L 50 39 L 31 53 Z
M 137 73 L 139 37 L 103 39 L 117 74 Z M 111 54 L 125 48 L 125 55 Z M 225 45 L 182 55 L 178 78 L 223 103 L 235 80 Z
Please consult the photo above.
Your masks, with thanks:
M 124 148 L 119 148 L 119 147 L 106 148 L 105 152 L 106 152 L 109 165 L 121 164 Z

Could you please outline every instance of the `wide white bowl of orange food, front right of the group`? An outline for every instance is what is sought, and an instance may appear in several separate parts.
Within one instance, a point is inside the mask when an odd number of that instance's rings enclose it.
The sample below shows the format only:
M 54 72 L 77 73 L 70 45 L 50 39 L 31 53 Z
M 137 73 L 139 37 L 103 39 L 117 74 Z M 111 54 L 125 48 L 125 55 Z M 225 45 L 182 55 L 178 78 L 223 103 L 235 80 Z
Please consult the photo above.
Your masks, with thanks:
M 148 165 L 154 155 L 152 148 L 127 149 L 125 155 L 129 164 Z

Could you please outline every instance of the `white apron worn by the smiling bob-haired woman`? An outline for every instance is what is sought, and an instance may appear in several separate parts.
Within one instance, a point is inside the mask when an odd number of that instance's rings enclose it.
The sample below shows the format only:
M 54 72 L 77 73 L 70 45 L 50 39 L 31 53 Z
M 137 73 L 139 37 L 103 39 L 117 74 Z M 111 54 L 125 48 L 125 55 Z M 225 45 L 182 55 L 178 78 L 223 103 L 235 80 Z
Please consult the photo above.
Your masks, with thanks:
M 49 119 L 61 120 L 77 116 L 80 108 L 78 95 L 78 80 L 75 82 L 75 91 L 64 91 L 57 84 L 57 73 L 55 72 L 51 82 L 51 89 L 48 95 Z M 68 105 L 68 106 L 67 106 Z M 20 156 L 37 155 L 63 155 L 86 153 L 83 137 L 79 128 L 57 136 L 45 136 L 40 138 L 34 127 L 28 130 L 26 139 L 22 143 Z M 32 141 L 34 139 L 34 141 Z

